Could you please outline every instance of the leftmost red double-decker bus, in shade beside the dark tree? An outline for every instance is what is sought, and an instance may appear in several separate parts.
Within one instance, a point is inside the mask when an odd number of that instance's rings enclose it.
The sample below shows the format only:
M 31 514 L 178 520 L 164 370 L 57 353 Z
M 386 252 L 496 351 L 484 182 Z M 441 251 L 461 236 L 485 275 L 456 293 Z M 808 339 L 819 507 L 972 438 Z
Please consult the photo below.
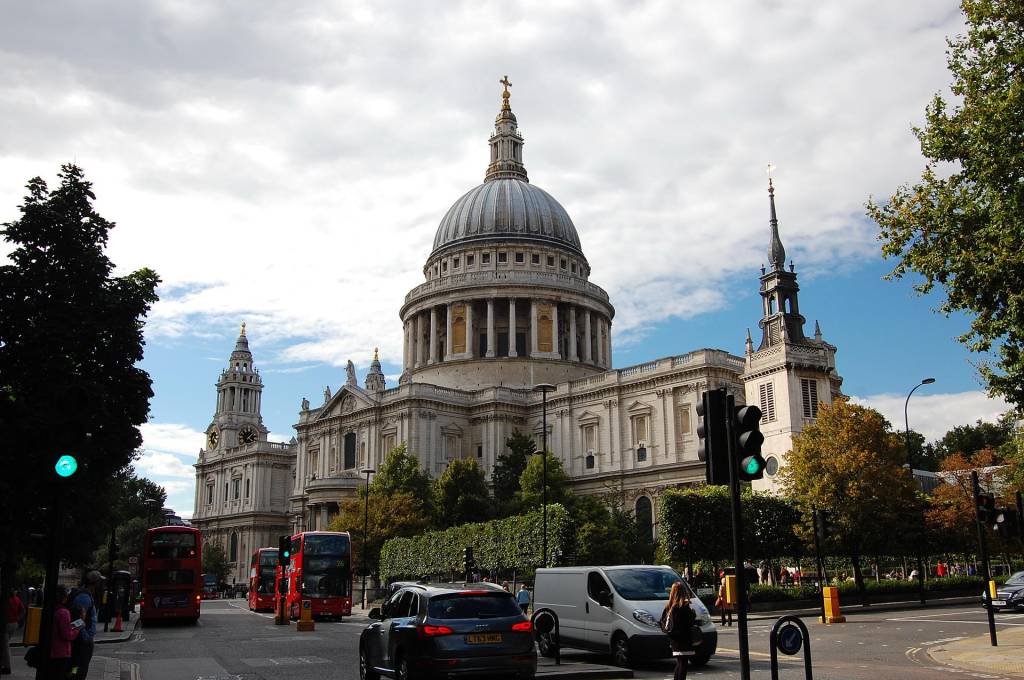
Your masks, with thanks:
M 141 621 L 199 621 L 203 537 L 190 526 L 158 526 L 142 548 Z

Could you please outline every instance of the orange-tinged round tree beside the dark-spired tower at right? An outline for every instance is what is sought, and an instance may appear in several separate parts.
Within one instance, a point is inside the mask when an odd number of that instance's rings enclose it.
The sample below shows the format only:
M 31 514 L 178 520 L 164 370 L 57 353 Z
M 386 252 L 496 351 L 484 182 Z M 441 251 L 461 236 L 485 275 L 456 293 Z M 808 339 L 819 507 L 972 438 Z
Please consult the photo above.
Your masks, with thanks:
M 882 414 L 840 398 L 793 438 L 781 472 L 784 494 L 803 515 L 803 538 L 812 538 L 812 509 L 824 511 L 835 530 L 826 548 L 850 558 L 861 593 L 860 557 L 898 553 L 913 545 L 906 532 L 923 525 L 915 483 L 901 467 L 904 445 Z

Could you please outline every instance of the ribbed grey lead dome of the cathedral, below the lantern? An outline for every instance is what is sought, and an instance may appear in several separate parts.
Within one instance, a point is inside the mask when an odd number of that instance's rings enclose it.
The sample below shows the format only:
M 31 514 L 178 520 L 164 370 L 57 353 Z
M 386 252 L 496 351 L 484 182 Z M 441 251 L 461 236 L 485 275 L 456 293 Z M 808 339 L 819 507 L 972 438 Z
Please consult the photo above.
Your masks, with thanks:
M 437 227 L 433 252 L 487 240 L 541 242 L 583 254 L 565 208 L 524 177 L 492 178 L 456 201 Z

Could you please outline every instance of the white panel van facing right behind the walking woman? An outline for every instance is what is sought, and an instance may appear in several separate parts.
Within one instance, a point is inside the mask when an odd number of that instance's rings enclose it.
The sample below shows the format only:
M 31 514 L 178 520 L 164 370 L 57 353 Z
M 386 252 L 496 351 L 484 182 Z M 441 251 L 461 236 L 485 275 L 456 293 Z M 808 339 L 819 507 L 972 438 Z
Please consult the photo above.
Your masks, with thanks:
M 563 646 L 606 651 L 616 666 L 633 660 L 672 655 L 659 622 L 672 584 L 682 581 L 666 565 L 561 566 L 538 569 L 534 584 L 534 617 L 550 613 L 558 622 Z M 690 658 L 692 666 L 708 663 L 718 646 L 718 630 L 695 595 L 690 606 L 703 642 Z M 541 653 L 554 655 L 553 633 L 540 636 Z

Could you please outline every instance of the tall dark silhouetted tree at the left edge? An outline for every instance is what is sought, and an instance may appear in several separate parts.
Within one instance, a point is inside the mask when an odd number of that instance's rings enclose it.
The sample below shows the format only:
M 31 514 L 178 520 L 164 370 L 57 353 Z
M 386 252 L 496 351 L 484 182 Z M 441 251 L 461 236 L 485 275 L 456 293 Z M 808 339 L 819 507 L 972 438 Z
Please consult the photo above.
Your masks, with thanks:
M 83 509 L 66 515 L 60 557 L 89 558 L 110 532 L 119 474 L 141 444 L 153 395 L 138 364 L 159 279 L 150 269 L 113 275 L 113 222 L 93 209 L 81 169 L 65 165 L 58 176 L 52 192 L 32 179 L 19 218 L 0 231 L 13 247 L 0 266 L 0 469 L 17 471 L 0 475 L 4 575 L 23 551 L 41 553 L 29 535 L 46 525 L 41 507 L 55 493 Z M 57 492 L 53 464 L 63 453 L 79 468 Z

